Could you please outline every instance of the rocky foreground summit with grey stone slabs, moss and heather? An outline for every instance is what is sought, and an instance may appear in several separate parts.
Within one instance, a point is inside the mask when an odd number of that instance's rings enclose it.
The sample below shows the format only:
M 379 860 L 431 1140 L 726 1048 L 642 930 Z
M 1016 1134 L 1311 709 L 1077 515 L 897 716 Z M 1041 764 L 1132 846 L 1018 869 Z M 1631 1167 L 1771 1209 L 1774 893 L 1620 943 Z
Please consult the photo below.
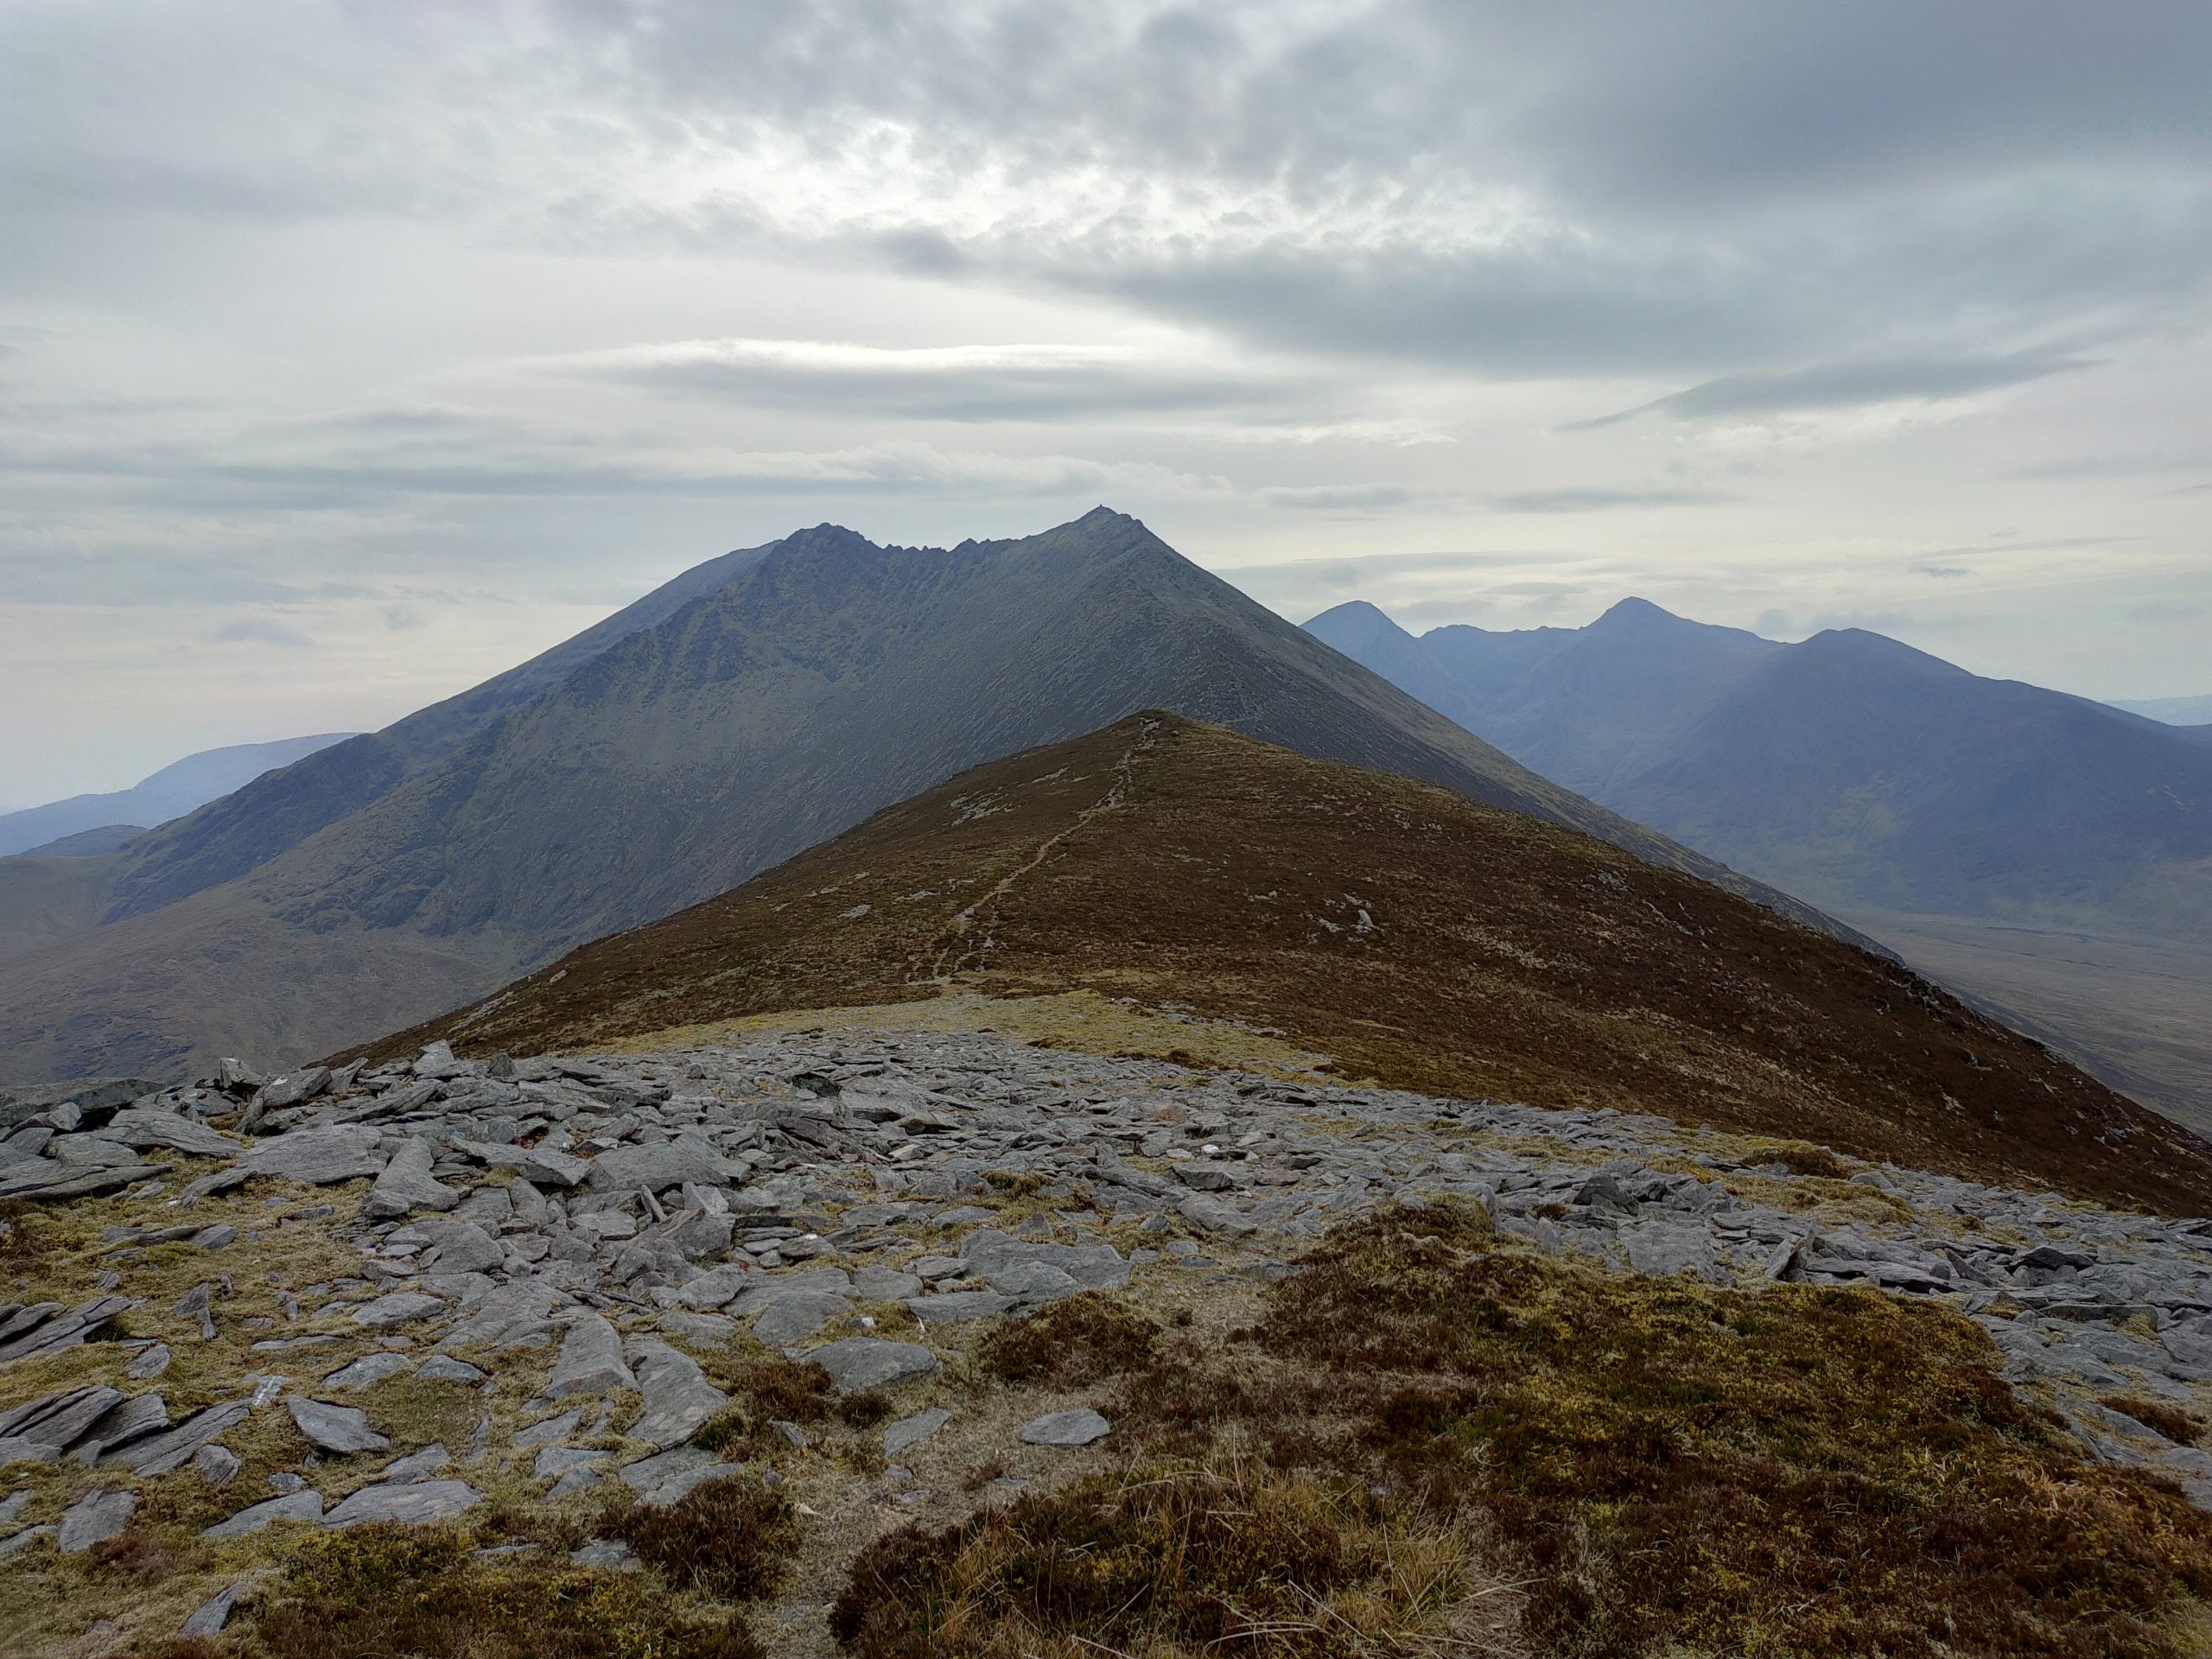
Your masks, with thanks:
M 2190 1650 L 2212 1223 L 980 1009 L 18 1113 L 4 1644 Z

